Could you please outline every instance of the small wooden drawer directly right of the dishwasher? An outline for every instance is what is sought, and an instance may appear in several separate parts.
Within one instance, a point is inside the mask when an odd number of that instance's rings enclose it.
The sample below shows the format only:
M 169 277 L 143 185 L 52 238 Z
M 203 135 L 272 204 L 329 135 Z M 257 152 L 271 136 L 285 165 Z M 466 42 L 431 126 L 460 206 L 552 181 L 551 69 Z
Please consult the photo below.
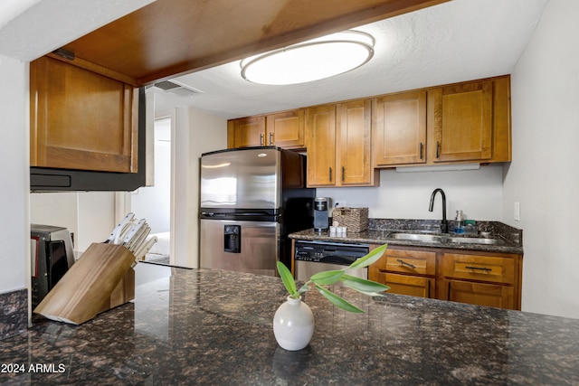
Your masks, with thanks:
M 386 249 L 378 262 L 378 269 L 390 272 L 434 275 L 436 253 L 403 249 Z

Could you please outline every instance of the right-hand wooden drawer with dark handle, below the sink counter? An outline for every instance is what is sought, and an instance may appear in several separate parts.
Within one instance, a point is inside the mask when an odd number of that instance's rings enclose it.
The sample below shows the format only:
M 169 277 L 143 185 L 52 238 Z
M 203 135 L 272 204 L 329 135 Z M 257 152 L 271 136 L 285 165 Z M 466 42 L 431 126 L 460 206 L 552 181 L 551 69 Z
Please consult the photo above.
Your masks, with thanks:
M 509 258 L 445 253 L 442 266 L 445 278 L 505 284 L 515 282 L 515 261 Z

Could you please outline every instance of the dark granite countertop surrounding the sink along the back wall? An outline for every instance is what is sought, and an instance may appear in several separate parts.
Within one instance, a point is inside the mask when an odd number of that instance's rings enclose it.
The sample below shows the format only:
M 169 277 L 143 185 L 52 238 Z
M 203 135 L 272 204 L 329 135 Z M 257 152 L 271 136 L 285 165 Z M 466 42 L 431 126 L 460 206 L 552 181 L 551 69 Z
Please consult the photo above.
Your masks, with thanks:
M 452 221 L 451 225 L 452 226 Z M 422 247 L 428 249 L 460 249 L 478 250 L 483 252 L 514 253 L 523 254 L 522 231 L 509 227 L 496 221 L 480 222 L 484 230 L 491 233 L 491 237 L 501 241 L 501 244 L 474 244 L 457 242 L 428 242 L 416 240 L 397 240 L 389 237 L 392 232 L 428 232 L 430 234 L 440 233 L 440 221 L 429 220 L 370 220 L 370 229 L 360 232 L 346 232 L 346 235 L 330 234 L 328 231 L 314 231 L 308 229 L 289 234 L 290 239 L 296 240 L 322 240 L 330 242 L 349 242 L 365 244 L 388 244 L 407 247 Z M 457 235 L 451 234 L 457 237 Z M 460 238 L 477 237 L 480 235 L 460 235 Z

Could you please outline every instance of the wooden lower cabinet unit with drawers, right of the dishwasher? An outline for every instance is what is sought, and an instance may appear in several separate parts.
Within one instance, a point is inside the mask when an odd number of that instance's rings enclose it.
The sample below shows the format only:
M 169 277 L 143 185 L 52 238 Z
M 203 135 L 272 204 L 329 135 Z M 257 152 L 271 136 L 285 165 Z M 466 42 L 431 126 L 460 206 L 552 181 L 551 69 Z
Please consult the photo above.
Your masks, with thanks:
M 521 277 L 521 255 L 450 249 L 388 247 L 368 268 L 394 294 L 517 310 Z

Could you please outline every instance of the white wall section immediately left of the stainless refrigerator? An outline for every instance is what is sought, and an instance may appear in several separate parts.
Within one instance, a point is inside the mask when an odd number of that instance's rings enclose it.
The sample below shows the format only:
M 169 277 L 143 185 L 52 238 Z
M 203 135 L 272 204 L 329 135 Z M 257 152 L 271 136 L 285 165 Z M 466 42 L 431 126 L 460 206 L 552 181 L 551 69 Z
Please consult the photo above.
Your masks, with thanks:
M 176 167 L 172 228 L 176 266 L 199 267 L 199 157 L 227 147 L 227 120 L 196 108 L 176 108 L 173 151 Z

